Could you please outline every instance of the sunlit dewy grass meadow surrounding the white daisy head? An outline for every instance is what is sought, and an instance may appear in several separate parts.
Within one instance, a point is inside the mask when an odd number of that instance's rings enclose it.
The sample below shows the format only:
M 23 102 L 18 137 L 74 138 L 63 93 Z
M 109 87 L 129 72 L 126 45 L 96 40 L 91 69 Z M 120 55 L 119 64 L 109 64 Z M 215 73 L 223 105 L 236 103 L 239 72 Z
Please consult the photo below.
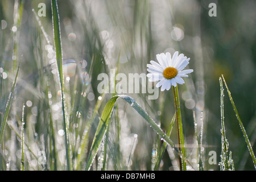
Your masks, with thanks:
M 0 169 L 255 170 L 255 9 L 1 0 Z M 147 64 L 175 51 L 193 72 L 161 91 Z

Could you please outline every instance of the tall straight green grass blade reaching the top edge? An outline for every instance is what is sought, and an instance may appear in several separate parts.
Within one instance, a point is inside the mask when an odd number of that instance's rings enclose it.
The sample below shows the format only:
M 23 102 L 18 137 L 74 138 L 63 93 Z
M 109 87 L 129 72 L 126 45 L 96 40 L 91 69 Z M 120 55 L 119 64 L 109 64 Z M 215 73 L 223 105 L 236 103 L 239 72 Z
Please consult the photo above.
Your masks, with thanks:
M 71 158 L 70 158 L 70 148 L 69 148 L 69 139 L 68 139 L 68 126 L 67 126 L 67 121 L 66 121 L 65 100 L 64 100 L 63 57 L 62 57 L 62 48 L 61 48 L 60 22 L 59 22 L 59 11 L 58 11 L 58 6 L 57 6 L 57 0 L 52 0 L 52 24 L 53 24 L 53 35 L 54 35 L 54 41 L 55 41 L 57 68 L 58 68 L 58 73 L 59 73 L 59 78 L 60 78 L 67 168 L 68 168 L 68 170 L 71 170 Z

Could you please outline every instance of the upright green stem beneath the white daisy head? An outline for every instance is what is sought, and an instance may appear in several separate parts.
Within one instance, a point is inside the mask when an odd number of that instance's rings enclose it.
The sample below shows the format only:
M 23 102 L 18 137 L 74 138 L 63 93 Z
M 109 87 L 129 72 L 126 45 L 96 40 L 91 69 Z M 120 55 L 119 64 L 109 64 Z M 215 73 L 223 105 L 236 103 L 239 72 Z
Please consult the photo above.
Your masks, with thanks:
M 176 110 L 176 121 L 177 121 L 177 139 L 179 144 L 179 151 L 185 157 L 185 148 L 184 148 L 184 134 L 183 134 L 183 127 L 181 122 L 181 112 L 180 112 L 180 100 L 179 100 L 179 91 L 177 86 L 172 86 L 172 90 L 174 91 L 174 104 Z M 180 170 L 186 171 L 186 163 L 185 161 L 179 156 L 180 162 Z

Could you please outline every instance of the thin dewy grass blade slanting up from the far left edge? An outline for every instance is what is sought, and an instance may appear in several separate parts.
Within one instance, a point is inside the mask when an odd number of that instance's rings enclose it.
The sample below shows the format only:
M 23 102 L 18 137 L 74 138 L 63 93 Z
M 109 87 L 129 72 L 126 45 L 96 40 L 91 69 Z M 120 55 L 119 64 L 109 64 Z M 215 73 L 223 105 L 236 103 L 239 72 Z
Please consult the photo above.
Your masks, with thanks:
M 10 107 L 11 107 L 11 101 L 13 100 L 14 89 L 15 89 L 15 86 L 16 86 L 16 80 L 17 80 L 17 77 L 18 77 L 18 73 L 19 73 L 19 68 L 20 68 L 20 63 L 21 63 L 21 62 L 22 62 L 22 59 L 20 59 L 19 67 L 18 67 L 18 69 L 17 69 L 16 76 L 15 76 L 15 78 L 14 78 L 13 86 L 12 86 L 12 88 L 11 88 L 11 92 L 10 92 L 9 98 L 8 98 L 8 100 L 7 100 L 5 115 L 4 115 L 4 117 L 3 117 L 1 129 L 0 129 L 0 145 L 1 145 L 1 143 L 2 143 L 3 133 L 4 133 L 4 131 L 5 131 L 5 126 L 6 126 L 7 118 L 8 118 L 8 116 L 9 116 Z

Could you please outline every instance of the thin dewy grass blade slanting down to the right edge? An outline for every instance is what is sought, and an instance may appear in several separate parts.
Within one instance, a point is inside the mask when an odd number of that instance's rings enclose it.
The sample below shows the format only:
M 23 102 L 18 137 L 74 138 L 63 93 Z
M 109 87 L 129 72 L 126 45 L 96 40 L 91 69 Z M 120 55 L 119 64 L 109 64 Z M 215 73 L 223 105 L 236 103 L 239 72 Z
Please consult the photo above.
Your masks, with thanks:
M 236 105 L 234 104 L 234 101 L 233 101 L 233 98 L 231 96 L 231 92 L 229 91 L 229 88 L 228 88 L 228 85 L 226 84 L 226 81 L 225 81 L 225 78 L 223 75 L 221 75 L 223 80 L 224 80 L 224 83 L 225 83 L 225 86 L 226 86 L 226 90 L 229 94 L 229 99 L 230 99 L 230 102 L 233 106 L 233 109 L 234 109 L 234 112 L 236 113 L 236 117 L 238 119 L 238 122 L 239 122 L 239 125 L 241 127 L 241 130 L 242 130 L 242 133 L 243 133 L 243 137 L 245 138 L 245 142 L 247 144 L 247 147 L 248 147 L 248 150 L 250 152 L 250 155 L 251 155 L 251 158 L 253 159 L 253 164 L 254 164 L 254 168 L 256 169 L 256 158 L 255 158 L 255 155 L 254 155 L 254 152 L 253 152 L 253 148 L 251 147 L 251 143 L 250 143 L 250 140 L 249 138 L 247 137 L 247 134 L 246 134 L 246 131 L 245 131 L 245 127 L 243 127 L 243 123 L 238 115 L 238 111 L 237 111 L 237 107 Z

